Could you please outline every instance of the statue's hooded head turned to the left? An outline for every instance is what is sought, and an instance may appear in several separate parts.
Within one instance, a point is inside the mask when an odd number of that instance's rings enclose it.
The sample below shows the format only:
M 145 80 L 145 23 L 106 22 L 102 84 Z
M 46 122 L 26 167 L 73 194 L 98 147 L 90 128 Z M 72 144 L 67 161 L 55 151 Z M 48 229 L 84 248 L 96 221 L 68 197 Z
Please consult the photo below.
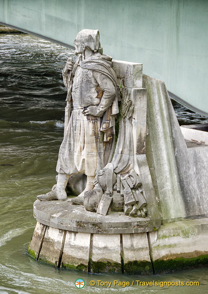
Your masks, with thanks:
M 98 29 L 82 29 L 78 32 L 75 40 L 75 54 L 81 54 L 87 47 L 97 52 L 100 46 L 100 33 Z

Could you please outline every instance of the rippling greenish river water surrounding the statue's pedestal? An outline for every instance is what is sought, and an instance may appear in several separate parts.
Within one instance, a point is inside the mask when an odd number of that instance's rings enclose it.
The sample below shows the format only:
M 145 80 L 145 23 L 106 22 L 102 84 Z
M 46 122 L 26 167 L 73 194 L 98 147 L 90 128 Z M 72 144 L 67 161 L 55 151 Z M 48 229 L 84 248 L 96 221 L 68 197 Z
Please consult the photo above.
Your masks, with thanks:
M 88 274 L 28 255 L 36 195 L 50 190 L 63 137 L 66 90 L 61 70 L 72 50 L 27 34 L 0 35 L 0 293 L 208 293 L 208 267 L 163 275 Z M 207 118 L 175 103 L 181 124 Z M 2 165 L 12 164 L 12 165 Z M 85 280 L 83 289 L 74 281 Z M 90 286 L 89 281 L 96 281 Z M 99 286 L 102 281 L 199 281 L 200 286 Z

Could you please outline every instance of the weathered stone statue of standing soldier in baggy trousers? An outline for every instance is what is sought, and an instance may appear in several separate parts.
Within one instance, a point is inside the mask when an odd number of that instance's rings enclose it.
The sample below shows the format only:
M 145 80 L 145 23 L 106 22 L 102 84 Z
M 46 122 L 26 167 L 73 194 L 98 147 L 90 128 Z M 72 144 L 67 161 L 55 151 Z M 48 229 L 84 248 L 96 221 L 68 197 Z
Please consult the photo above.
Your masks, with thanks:
M 117 77 L 112 58 L 102 54 L 99 31 L 81 30 L 75 40 L 76 62 L 68 58 L 63 69 L 67 105 L 73 110 L 60 146 L 56 171 L 57 184 L 37 199 L 66 200 L 65 187 L 71 174 L 87 175 L 85 189 L 71 201 L 82 204 L 84 193 L 92 190 L 94 179 L 110 160 L 119 112 Z M 69 110 L 70 115 L 70 110 Z M 66 121 L 65 121 L 66 123 Z

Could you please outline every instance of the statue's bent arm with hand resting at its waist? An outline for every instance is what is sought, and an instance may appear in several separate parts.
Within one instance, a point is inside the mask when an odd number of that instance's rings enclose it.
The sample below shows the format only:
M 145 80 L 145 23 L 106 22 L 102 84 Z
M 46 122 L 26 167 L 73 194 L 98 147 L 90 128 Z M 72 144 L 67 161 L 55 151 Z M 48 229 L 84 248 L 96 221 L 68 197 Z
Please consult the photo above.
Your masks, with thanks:
M 82 112 L 85 115 L 102 116 L 103 113 L 111 106 L 116 95 L 116 89 L 113 82 L 103 73 L 94 71 L 93 75 L 103 90 L 103 95 L 98 106 L 91 105 Z

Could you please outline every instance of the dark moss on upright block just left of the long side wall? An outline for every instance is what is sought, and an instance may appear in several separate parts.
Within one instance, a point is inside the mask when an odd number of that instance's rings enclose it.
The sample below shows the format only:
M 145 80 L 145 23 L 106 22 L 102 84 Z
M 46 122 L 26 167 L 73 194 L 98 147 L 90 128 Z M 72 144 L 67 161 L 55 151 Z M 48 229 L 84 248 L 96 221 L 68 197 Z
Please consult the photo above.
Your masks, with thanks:
M 124 272 L 128 274 L 152 274 L 152 263 L 150 261 L 128 261 L 124 263 Z

